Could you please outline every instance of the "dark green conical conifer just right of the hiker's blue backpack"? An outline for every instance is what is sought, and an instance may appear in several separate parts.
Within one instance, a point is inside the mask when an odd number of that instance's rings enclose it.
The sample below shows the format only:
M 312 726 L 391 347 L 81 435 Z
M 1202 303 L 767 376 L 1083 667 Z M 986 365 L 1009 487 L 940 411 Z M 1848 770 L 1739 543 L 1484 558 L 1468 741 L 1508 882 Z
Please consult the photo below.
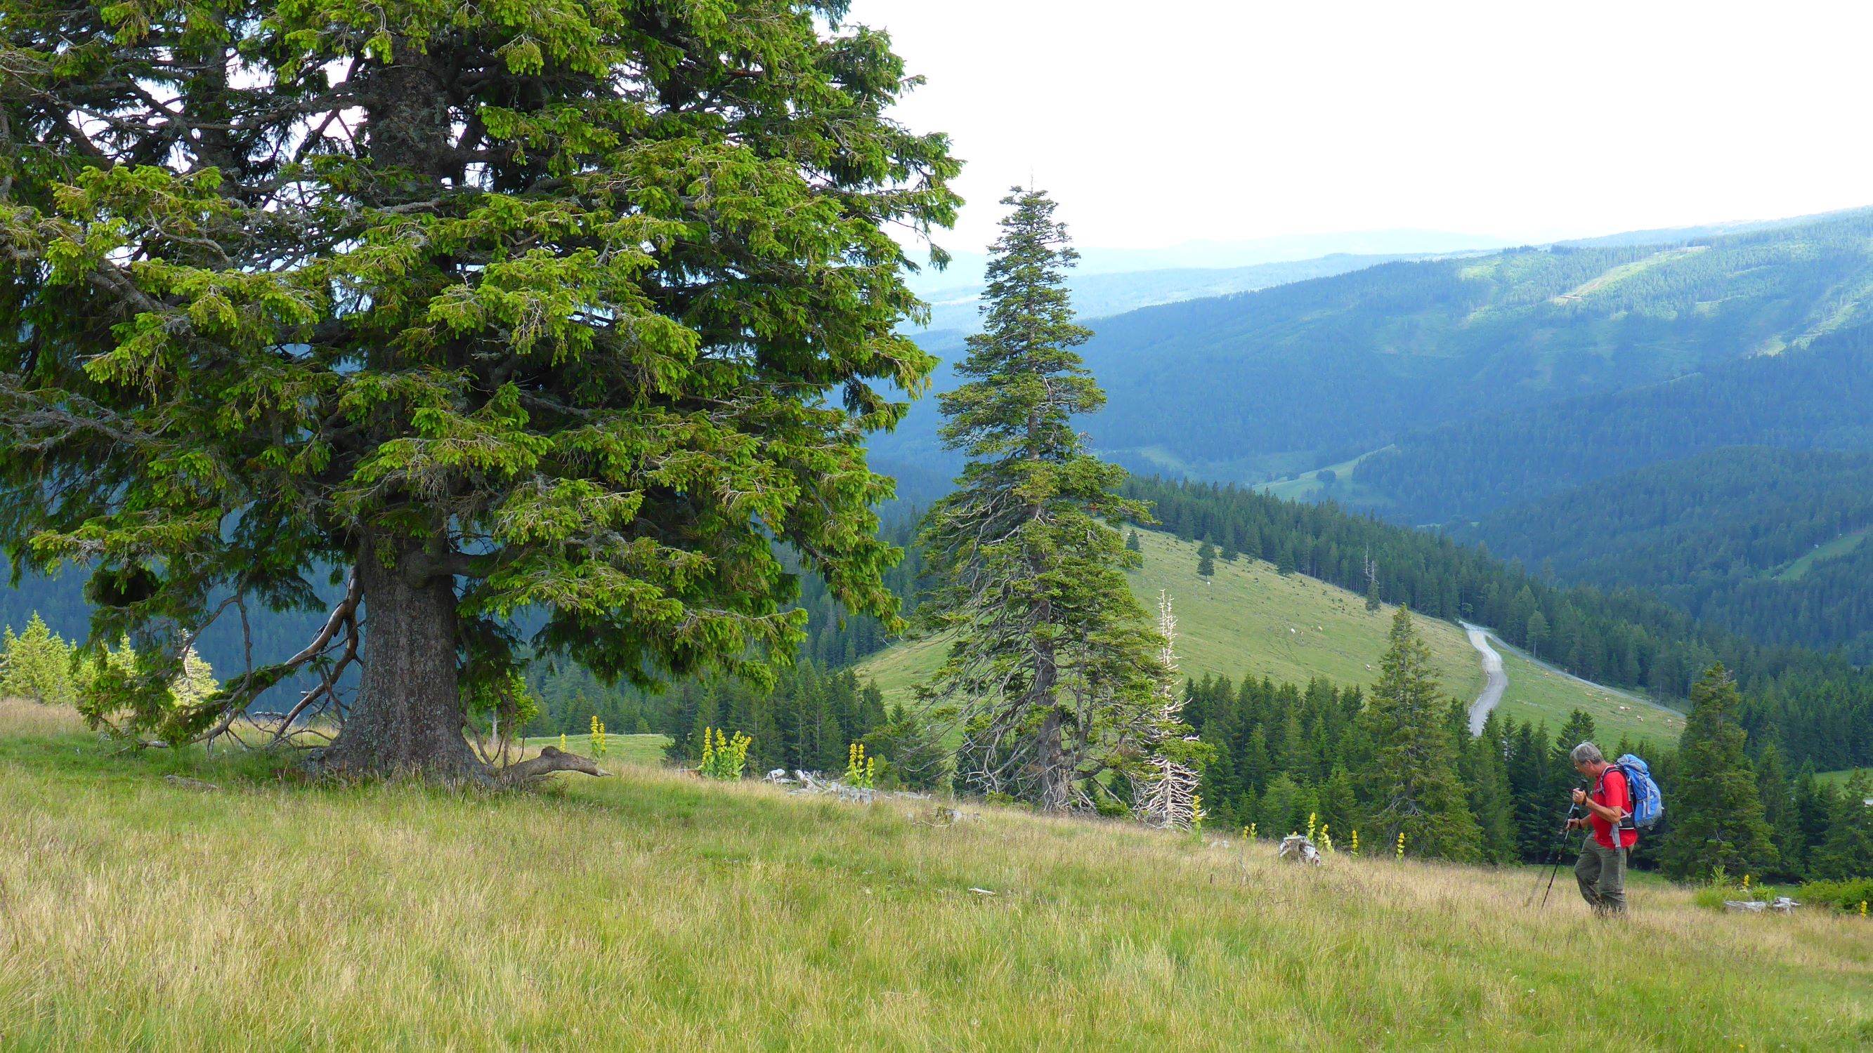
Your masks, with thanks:
M 1706 877 L 1718 866 L 1729 873 L 1762 873 L 1776 864 L 1755 772 L 1744 756 L 1740 707 L 1736 681 L 1723 666 L 1712 666 L 1691 688 L 1691 714 L 1678 741 L 1673 825 L 1661 855 L 1673 877 Z

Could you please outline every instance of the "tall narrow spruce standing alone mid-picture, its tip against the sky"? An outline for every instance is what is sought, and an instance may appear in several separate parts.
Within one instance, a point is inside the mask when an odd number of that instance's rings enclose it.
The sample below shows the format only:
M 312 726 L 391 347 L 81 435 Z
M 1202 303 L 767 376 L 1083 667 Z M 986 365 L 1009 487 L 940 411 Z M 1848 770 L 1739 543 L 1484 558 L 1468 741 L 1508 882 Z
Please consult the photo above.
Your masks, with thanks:
M 1073 428 L 1105 393 L 1073 350 L 1092 333 L 1073 324 L 1077 252 L 1054 202 L 1015 187 L 1002 204 L 983 329 L 957 365 L 966 382 L 940 397 L 944 443 L 968 464 L 923 520 L 935 585 L 918 617 L 953 636 L 922 696 L 963 718 L 959 776 L 1060 810 L 1088 804 L 1148 724 L 1161 640 L 1126 585 L 1139 555 L 1118 526 L 1150 516 Z

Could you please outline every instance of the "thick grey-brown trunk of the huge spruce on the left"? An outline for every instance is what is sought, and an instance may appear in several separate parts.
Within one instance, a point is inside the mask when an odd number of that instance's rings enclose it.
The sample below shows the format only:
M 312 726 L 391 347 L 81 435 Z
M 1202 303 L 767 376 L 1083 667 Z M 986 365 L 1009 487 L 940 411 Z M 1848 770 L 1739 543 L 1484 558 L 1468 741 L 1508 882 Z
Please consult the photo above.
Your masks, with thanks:
M 363 550 L 363 677 L 326 765 L 358 776 L 487 778 L 463 737 L 453 580 L 412 585 Z

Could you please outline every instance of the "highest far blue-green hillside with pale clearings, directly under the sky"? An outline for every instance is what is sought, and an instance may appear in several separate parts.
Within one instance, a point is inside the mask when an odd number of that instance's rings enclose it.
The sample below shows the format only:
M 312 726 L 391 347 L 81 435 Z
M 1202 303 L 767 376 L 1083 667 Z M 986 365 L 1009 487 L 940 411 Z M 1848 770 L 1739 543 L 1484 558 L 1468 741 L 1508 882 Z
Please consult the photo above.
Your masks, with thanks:
M 1864 324 L 1873 211 L 1695 243 L 1399 262 L 1099 320 L 1101 451 L 1257 481 L 1478 413 L 1656 383 Z

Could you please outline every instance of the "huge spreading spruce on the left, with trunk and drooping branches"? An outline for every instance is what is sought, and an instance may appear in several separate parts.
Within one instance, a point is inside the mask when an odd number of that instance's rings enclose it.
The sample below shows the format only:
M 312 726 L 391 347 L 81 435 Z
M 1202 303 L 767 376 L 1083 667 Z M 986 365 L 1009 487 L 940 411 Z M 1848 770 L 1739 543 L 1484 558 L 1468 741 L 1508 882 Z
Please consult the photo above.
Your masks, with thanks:
M 957 163 L 845 7 L 0 0 L 0 539 L 133 636 L 99 714 L 180 741 L 361 658 L 335 767 L 483 778 L 517 612 L 605 677 L 760 675 L 779 539 L 893 617 L 862 443 L 933 363 L 890 232 Z M 161 705 L 320 574 L 303 653 Z

